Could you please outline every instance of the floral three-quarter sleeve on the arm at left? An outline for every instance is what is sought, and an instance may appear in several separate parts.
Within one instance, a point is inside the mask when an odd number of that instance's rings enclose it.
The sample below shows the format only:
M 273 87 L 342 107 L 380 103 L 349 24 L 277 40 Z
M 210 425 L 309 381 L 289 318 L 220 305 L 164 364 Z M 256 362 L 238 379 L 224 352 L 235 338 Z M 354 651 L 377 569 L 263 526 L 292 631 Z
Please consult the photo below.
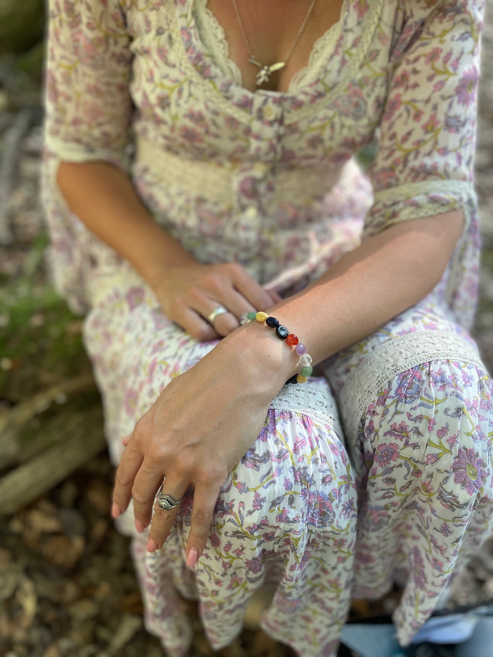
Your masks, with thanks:
M 49 0 L 45 143 L 59 160 L 126 166 L 131 53 L 118 0 Z

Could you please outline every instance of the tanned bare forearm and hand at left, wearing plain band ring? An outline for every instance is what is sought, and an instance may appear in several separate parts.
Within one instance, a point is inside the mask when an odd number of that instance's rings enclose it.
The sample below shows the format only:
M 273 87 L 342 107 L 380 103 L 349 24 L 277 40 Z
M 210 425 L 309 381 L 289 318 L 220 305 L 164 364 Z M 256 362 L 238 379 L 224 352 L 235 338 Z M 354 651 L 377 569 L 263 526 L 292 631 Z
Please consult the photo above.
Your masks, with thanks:
M 62 162 L 57 181 L 72 212 L 133 265 L 164 313 L 197 340 L 227 336 L 242 313 L 281 301 L 237 263 L 197 262 L 154 221 L 124 171 L 105 162 Z M 212 327 L 206 318 L 218 306 L 229 312 Z

